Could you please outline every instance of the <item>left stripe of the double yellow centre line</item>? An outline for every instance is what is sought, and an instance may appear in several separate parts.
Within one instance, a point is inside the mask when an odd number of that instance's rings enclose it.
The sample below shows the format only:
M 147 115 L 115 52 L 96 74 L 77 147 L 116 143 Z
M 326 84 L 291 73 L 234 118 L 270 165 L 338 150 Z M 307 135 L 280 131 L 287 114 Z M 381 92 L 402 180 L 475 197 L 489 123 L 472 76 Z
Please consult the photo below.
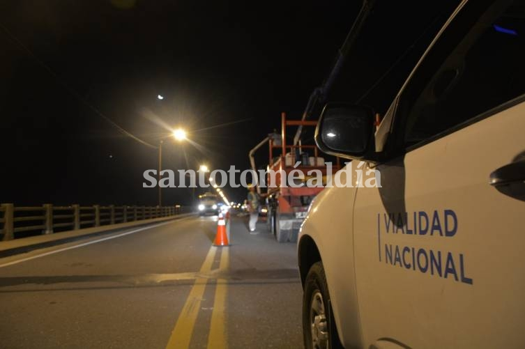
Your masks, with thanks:
M 206 259 L 201 266 L 201 273 L 211 271 L 211 265 L 213 265 L 213 258 L 215 258 L 215 252 L 217 247 L 212 246 L 208 251 Z M 222 258 L 221 258 L 222 261 Z M 190 348 L 190 341 L 192 339 L 193 327 L 195 327 L 195 321 L 199 314 L 199 309 L 204 295 L 204 289 L 206 288 L 206 282 L 208 279 L 198 277 L 195 279 L 195 284 L 190 290 L 190 295 L 186 300 L 184 307 L 181 311 L 181 315 L 178 316 L 178 320 L 172 331 L 172 335 L 169 337 L 167 343 L 167 349 L 186 349 Z

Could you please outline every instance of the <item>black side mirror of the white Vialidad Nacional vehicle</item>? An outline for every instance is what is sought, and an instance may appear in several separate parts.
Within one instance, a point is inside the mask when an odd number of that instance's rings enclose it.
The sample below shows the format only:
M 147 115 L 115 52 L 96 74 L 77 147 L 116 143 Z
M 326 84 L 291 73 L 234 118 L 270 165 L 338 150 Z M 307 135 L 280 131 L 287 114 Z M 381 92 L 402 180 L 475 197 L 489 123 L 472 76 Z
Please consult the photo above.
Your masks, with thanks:
M 328 103 L 315 129 L 315 142 L 324 153 L 359 159 L 369 150 L 373 132 L 372 109 Z

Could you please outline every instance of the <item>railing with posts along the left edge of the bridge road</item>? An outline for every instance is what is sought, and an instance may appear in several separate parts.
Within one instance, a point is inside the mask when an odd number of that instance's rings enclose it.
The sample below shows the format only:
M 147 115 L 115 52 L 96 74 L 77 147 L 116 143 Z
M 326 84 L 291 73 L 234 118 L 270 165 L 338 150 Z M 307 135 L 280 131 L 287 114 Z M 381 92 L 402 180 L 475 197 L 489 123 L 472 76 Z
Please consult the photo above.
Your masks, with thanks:
M 0 205 L 1 240 L 13 240 L 20 233 L 29 235 L 52 234 L 57 229 L 78 230 L 93 226 L 107 226 L 117 223 L 142 221 L 169 217 L 192 212 L 190 206 L 15 206 L 13 203 Z M 17 234 L 18 233 L 18 234 Z M 32 233 L 32 234 L 31 234 Z M 26 234 L 24 234 L 26 235 Z

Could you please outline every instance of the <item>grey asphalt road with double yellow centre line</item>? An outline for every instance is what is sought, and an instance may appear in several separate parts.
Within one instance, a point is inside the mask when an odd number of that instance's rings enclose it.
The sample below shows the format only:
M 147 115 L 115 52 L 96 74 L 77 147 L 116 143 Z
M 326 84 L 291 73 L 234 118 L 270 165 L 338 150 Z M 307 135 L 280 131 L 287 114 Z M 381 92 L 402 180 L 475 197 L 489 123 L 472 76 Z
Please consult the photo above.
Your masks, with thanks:
M 189 217 L 0 259 L 0 348 L 302 348 L 295 244 Z

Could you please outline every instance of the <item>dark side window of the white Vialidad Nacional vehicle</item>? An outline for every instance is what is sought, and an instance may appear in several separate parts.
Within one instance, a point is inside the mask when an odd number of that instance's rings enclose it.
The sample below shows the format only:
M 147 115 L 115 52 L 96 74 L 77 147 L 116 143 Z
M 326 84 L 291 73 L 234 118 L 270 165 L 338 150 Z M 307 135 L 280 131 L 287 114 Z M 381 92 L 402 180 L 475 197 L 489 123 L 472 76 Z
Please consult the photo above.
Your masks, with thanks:
M 455 21 L 464 20 L 461 17 L 460 13 Z M 452 49 L 447 50 L 447 45 Z M 416 72 L 402 98 L 404 146 L 446 132 L 524 94 L 524 61 L 524 1 L 506 8 L 491 6 L 470 26 L 450 24 L 420 65 L 427 73 Z

